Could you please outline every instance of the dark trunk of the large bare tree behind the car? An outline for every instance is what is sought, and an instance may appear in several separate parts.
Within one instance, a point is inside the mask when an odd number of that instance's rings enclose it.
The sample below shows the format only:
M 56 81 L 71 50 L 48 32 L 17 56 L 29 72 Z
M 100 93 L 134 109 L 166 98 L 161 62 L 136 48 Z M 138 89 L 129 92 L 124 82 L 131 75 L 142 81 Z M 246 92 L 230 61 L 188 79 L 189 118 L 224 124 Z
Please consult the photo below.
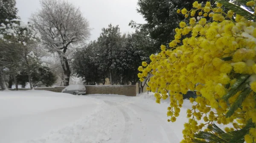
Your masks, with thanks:
M 61 53 L 58 53 L 60 58 L 61 58 L 61 67 L 64 71 L 64 81 L 63 84 L 64 86 L 69 86 L 69 81 L 70 81 L 70 75 L 71 75 L 71 71 L 70 71 L 70 67 L 67 61 L 67 58 L 62 56 Z

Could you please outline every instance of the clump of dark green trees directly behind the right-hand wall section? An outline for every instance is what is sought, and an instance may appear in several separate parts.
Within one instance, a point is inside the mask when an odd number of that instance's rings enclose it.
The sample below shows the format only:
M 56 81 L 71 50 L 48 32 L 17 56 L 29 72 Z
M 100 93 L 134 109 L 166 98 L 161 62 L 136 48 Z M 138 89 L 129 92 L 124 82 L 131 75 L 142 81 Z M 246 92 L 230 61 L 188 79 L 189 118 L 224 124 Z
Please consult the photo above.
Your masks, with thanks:
M 73 73 L 84 79 L 87 85 L 133 84 L 137 78 L 137 68 L 148 60 L 147 49 L 154 46 L 148 33 L 136 31 L 133 34 L 121 34 L 118 25 L 102 28 L 97 40 L 90 42 L 74 54 Z

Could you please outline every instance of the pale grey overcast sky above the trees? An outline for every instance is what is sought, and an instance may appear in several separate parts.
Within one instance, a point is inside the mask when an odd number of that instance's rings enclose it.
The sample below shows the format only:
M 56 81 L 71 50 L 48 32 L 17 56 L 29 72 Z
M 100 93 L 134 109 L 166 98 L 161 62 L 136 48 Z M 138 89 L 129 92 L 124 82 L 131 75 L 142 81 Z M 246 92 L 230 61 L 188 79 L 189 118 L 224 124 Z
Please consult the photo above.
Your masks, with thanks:
M 68 0 L 78 6 L 84 17 L 89 20 L 91 31 L 90 40 L 96 40 L 101 29 L 108 24 L 119 25 L 122 33 L 132 32 L 128 26 L 131 20 L 145 23 L 143 17 L 137 13 L 137 0 Z M 16 0 L 18 15 L 23 22 L 27 22 L 32 13 L 40 8 L 39 0 Z

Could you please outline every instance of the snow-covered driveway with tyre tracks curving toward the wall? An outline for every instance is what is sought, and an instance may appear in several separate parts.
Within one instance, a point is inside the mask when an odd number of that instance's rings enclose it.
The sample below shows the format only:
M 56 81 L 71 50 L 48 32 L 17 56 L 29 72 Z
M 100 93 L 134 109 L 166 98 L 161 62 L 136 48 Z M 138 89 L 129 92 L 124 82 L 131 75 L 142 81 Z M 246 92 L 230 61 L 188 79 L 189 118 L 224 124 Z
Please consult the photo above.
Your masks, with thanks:
M 91 95 L 102 99 L 118 112 L 119 121 L 124 118 L 123 128 L 113 131 L 111 140 L 107 143 L 179 143 L 180 132 L 175 132 L 171 123 L 167 122 L 166 106 L 160 107 L 153 100 L 143 103 L 140 97 L 119 95 Z M 159 107 L 158 110 L 154 107 Z M 153 107 L 153 108 L 152 108 Z M 180 127 L 182 127 L 181 124 Z M 120 130 L 121 129 L 121 130 Z M 180 130 L 181 131 L 181 130 Z M 119 134 L 117 136 L 117 134 Z M 178 136 L 177 136 L 178 135 Z

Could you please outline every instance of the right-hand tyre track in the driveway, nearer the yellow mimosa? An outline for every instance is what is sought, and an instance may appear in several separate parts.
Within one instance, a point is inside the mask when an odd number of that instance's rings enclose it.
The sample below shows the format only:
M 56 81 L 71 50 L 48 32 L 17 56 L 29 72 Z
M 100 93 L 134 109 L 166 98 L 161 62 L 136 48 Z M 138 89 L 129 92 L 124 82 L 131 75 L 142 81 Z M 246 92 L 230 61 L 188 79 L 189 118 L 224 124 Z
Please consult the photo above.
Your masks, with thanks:
M 137 108 L 143 109 L 145 112 L 151 112 L 151 113 L 159 114 L 158 112 L 154 112 L 154 111 L 151 111 L 151 110 L 149 110 L 149 109 L 145 109 L 145 108 L 140 107 L 140 106 L 138 106 L 138 105 L 136 105 L 136 104 L 133 104 L 133 103 L 129 103 L 129 104 L 133 105 L 133 107 L 135 106 L 135 107 L 137 107 Z M 160 120 L 160 122 L 159 122 L 159 123 L 160 123 L 160 126 L 162 126 L 162 128 L 164 129 L 164 131 L 165 131 L 165 133 L 166 133 L 166 136 L 167 136 L 167 138 L 168 138 L 168 140 L 169 140 L 170 143 L 171 143 L 171 141 L 172 141 L 173 143 L 179 143 L 179 142 L 180 142 L 179 139 L 178 139 L 178 137 L 176 136 L 175 132 L 173 132 L 173 130 L 169 128 L 169 125 L 166 123 L 167 121 L 164 121 L 164 120 L 163 120 L 161 117 L 159 117 L 158 115 L 152 115 L 152 116 L 153 116 L 156 120 Z M 173 138 L 172 135 L 175 135 L 175 138 Z

